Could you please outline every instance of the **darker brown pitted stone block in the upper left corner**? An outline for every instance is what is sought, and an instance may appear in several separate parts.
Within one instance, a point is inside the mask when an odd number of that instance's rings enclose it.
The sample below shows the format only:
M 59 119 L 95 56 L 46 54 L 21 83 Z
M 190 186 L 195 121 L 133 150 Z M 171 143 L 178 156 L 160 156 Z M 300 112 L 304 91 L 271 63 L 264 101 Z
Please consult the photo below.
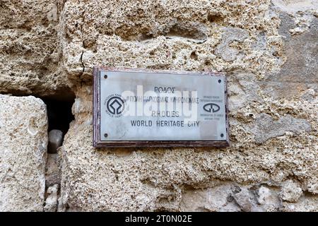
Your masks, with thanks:
M 65 97 L 58 26 L 63 0 L 0 2 L 0 93 Z

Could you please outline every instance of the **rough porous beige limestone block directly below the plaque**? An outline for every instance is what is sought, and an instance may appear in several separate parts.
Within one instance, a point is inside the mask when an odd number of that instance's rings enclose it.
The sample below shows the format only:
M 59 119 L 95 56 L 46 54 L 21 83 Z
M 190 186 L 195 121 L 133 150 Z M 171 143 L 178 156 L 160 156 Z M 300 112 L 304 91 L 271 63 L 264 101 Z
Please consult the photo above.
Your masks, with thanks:
M 88 90 L 88 89 L 83 89 Z M 88 91 L 90 93 L 90 91 Z M 293 175 L 305 190 L 316 192 L 312 184 L 317 184 L 314 162 L 317 160 L 315 136 L 305 131 L 300 136 L 286 133 L 279 138 L 271 138 L 266 145 L 249 142 L 247 139 L 235 141 L 231 148 L 133 148 L 107 149 L 93 148 L 91 96 L 77 93 L 73 106 L 76 121 L 66 134 L 61 151 L 62 179 L 61 203 L 67 203 L 69 210 L 279 210 L 278 192 L 260 194 L 259 205 L 252 203 L 255 197 L 240 196 L 240 205 L 225 201 L 228 196 L 225 187 L 220 201 L 199 199 L 189 194 L 211 186 L 211 178 L 235 182 L 258 183 L 273 181 L 280 184 Z M 247 133 L 235 131 L 235 136 Z M 89 136 L 88 136 L 89 134 Z M 245 134 L 245 135 L 244 135 Z M 237 148 L 235 147 L 237 145 Z M 248 153 L 248 155 L 247 155 Z M 107 176 L 106 176 L 107 175 Z M 264 189 L 262 189 L 264 190 Z M 192 208 L 187 200 L 196 200 Z M 208 190 L 213 194 L 213 189 Z M 257 192 L 257 191 L 255 191 Z M 206 193 L 204 193 L 206 194 Z M 246 194 L 246 193 L 245 193 Z M 201 196 L 201 195 L 199 195 Z M 208 197 L 208 195 L 205 195 Z M 212 195 L 211 195 L 212 196 Z M 192 198 L 192 199 L 191 199 Z M 201 201 L 200 201 L 201 200 Z M 217 206 L 224 201 L 224 208 Z M 243 201 L 247 201 L 246 207 Z M 263 201 L 261 201 L 263 200 Z M 249 206 L 249 205 L 252 205 Z M 62 208 L 60 210 L 63 210 Z

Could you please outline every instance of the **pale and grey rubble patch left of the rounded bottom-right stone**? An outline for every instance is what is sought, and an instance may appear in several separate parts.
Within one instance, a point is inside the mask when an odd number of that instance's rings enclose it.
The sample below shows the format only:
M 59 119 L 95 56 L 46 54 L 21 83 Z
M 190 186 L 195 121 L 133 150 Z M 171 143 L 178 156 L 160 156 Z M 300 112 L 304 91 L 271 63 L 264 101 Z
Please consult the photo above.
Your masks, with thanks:
M 270 183 L 269 183 L 270 184 Z M 208 189 L 188 188 L 182 194 L 184 211 L 281 211 L 279 188 L 265 184 L 239 185 L 213 180 Z

